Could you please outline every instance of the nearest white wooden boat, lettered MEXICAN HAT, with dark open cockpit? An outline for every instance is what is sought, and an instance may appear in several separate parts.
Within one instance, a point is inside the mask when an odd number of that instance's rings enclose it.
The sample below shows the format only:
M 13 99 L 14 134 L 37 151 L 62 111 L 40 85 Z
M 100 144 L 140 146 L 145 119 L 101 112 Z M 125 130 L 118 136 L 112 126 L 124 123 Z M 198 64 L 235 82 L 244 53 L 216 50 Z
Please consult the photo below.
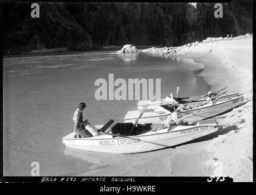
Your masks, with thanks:
M 131 154 L 154 151 L 176 146 L 209 135 L 218 130 L 216 121 L 187 126 L 156 127 L 154 124 L 115 123 L 109 121 L 98 126 L 99 135 L 89 138 L 74 138 L 75 133 L 62 138 L 67 147 L 88 151 Z M 101 130 L 100 130 L 101 129 Z M 129 135 L 130 130 L 133 133 Z

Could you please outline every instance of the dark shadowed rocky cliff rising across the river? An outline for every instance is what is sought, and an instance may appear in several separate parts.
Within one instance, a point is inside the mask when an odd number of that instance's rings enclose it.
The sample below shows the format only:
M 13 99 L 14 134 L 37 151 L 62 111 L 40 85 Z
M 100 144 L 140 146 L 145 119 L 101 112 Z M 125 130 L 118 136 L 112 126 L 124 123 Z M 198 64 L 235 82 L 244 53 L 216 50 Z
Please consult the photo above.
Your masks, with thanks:
M 110 45 L 178 46 L 206 37 L 252 33 L 252 1 L 223 3 L 62 3 L 40 2 L 40 18 L 31 3 L 2 3 L 4 53 L 41 48 L 73 51 Z

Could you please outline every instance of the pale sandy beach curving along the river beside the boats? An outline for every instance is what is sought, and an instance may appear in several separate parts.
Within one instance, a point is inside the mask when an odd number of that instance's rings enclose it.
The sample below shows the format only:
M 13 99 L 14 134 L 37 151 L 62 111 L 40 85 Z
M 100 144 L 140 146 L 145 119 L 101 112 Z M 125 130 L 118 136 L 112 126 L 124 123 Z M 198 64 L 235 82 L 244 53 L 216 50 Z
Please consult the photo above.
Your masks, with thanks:
M 204 65 L 200 76 L 211 91 L 228 87 L 229 93 L 252 98 L 252 38 L 199 43 L 178 49 L 173 57 Z M 224 127 L 214 135 L 160 151 L 127 155 L 115 165 L 79 176 L 229 176 L 234 182 L 251 182 L 252 109 L 249 101 L 218 116 Z

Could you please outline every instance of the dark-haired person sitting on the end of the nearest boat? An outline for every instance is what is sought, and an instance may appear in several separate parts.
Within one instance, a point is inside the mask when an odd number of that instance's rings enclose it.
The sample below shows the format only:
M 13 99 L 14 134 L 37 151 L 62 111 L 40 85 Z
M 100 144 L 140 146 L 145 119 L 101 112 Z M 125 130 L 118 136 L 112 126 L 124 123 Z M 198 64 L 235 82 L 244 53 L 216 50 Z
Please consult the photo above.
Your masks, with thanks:
M 81 102 L 80 104 L 78 104 L 78 108 L 74 113 L 73 121 L 74 132 L 76 134 L 75 138 L 91 137 L 98 135 L 96 127 L 90 124 L 87 119 L 85 121 L 83 119 L 82 112 L 84 112 L 85 108 L 86 104 L 84 102 Z

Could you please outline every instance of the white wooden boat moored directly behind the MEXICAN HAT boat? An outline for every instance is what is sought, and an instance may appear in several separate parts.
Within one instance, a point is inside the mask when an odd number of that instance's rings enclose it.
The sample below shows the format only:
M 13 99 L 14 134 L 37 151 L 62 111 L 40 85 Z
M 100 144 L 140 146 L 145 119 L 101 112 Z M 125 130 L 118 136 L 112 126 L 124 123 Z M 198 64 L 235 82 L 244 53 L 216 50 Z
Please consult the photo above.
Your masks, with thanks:
M 139 124 L 147 123 L 166 123 L 166 119 L 172 113 L 177 113 L 176 118 L 182 118 L 187 115 L 190 117 L 183 120 L 189 124 L 200 121 L 202 119 L 211 118 L 213 116 L 220 115 L 227 112 L 232 108 L 238 107 L 244 103 L 244 96 L 242 94 L 236 94 L 236 96 L 219 96 L 213 98 L 209 102 L 197 102 L 196 104 L 183 104 L 187 109 L 176 110 L 178 105 L 158 105 L 158 107 L 147 107 L 147 110 L 143 113 L 139 119 Z M 141 113 L 140 110 L 134 110 L 126 113 L 125 122 L 134 122 L 137 116 Z

